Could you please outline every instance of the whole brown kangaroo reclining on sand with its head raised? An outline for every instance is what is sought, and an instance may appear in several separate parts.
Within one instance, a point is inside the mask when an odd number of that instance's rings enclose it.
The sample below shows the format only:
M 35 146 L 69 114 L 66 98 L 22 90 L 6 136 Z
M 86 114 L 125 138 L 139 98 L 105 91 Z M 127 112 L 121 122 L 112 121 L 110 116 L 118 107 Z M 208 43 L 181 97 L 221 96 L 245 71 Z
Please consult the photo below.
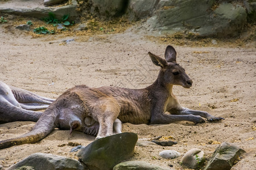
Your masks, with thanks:
M 174 85 L 190 88 L 192 80 L 176 62 L 174 47 L 167 46 L 165 59 L 148 52 L 152 62 L 160 67 L 158 78 L 143 89 L 119 87 L 90 88 L 85 85 L 70 88 L 44 111 L 34 128 L 18 137 L 0 141 L 0 148 L 35 143 L 54 128 L 82 131 L 97 135 L 96 139 L 121 133 L 122 123 L 170 124 L 191 121 L 195 124 L 220 121 L 207 112 L 181 107 L 172 93 Z

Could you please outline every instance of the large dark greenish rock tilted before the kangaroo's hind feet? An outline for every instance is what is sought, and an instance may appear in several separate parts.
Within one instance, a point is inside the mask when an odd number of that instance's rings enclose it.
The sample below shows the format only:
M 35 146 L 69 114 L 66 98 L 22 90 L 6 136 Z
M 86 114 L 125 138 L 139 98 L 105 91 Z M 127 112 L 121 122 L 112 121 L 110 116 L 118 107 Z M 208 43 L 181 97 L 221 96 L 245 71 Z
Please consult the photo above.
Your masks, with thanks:
M 137 140 L 135 133 L 115 134 L 90 143 L 77 156 L 89 169 L 113 169 L 122 160 L 133 156 Z

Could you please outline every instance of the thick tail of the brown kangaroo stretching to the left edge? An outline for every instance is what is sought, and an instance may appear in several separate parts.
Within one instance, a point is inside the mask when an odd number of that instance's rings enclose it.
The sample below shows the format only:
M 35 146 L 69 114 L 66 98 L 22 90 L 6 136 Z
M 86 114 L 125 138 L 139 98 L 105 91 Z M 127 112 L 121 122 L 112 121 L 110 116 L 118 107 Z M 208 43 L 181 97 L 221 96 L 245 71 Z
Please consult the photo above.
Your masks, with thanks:
M 36 122 L 34 128 L 17 138 L 7 139 L 5 141 L 0 141 L 0 148 L 6 148 L 16 145 L 23 145 L 25 143 L 35 143 L 45 138 L 51 131 L 56 127 L 54 122 L 57 117 L 57 109 L 49 108 Z

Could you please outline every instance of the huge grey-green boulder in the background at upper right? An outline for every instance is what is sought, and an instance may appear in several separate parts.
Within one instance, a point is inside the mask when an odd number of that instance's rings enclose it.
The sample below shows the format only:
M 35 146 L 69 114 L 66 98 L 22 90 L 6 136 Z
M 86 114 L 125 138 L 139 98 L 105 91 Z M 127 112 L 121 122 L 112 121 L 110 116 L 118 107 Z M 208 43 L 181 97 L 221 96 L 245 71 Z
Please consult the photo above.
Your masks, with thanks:
M 237 36 L 246 24 L 245 8 L 232 3 L 214 6 L 216 3 L 214 0 L 162 0 L 146 26 L 161 34 L 187 31 L 200 36 Z

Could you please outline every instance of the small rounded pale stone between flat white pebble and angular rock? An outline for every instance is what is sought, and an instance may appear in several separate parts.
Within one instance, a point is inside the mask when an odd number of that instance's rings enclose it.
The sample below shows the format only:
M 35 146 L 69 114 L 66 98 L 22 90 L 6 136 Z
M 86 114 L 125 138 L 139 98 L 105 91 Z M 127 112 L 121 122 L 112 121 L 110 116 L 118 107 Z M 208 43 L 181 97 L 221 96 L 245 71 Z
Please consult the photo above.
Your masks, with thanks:
M 204 152 L 199 148 L 192 148 L 181 159 L 181 163 L 189 168 L 200 168 L 205 162 Z

